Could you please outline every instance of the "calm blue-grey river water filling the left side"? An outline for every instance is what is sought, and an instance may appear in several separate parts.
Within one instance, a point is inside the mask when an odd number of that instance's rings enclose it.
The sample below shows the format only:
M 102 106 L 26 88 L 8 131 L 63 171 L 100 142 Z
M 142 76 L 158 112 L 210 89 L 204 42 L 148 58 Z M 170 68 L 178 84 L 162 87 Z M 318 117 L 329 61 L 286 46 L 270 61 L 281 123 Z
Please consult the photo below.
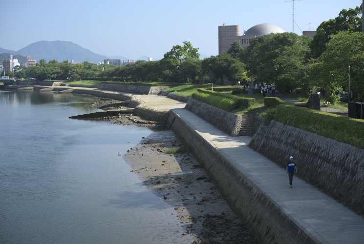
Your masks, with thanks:
M 152 131 L 68 119 L 94 101 L 0 90 L 0 243 L 192 243 L 119 156 Z

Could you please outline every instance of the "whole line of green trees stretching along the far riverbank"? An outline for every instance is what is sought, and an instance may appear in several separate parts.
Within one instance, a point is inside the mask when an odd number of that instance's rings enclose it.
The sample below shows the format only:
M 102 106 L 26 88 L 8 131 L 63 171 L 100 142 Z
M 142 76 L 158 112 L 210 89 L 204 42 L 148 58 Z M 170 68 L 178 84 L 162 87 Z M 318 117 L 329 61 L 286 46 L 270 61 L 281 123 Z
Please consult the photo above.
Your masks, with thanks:
M 351 100 L 364 102 L 364 34 L 361 31 L 362 6 L 343 9 L 337 18 L 322 22 L 312 40 L 295 33 L 272 33 L 253 39 L 246 48 L 234 42 L 228 52 L 204 60 L 199 59 L 198 48 L 184 41 L 183 45 L 173 46 L 159 61 L 114 66 L 41 60 L 36 66 L 17 66 L 15 76 L 72 81 L 218 84 L 226 80 L 232 84 L 254 81 L 275 83 L 281 93 L 301 87 L 305 97 L 320 87 L 325 89 L 327 100 L 336 102 L 339 94 L 349 88 L 350 70 L 350 90 L 354 92 Z

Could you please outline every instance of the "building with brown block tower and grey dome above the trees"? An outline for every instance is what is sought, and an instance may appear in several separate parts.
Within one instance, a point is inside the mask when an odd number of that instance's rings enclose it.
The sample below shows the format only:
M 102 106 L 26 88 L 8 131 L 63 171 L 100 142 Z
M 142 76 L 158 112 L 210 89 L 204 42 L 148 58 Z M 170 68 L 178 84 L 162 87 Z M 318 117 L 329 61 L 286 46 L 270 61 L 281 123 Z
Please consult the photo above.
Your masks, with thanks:
M 219 26 L 219 54 L 227 52 L 231 44 L 238 41 L 242 47 L 250 45 L 253 38 L 268 35 L 271 33 L 284 33 L 285 31 L 274 24 L 257 24 L 248 29 L 244 35 L 240 34 L 240 25 Z

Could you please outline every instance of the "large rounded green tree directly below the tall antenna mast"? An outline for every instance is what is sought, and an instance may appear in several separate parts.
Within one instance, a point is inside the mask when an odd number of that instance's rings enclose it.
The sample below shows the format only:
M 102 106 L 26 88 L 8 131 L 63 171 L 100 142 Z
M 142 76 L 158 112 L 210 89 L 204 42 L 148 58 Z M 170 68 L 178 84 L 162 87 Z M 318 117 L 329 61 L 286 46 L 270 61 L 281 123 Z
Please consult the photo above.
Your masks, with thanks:
M 253 39 L 238 58 L 256 80 L 275 82 L 280 91 L 288 92 L 292 86 L 303 81 L 304 76 L 298 74 L 304 70 L 310 41 L 309 37 L 295 33 L 272 33 Z M 296 68 L 300 67 L 300 72 L 291 68 L 291 61 L 295 62 Z

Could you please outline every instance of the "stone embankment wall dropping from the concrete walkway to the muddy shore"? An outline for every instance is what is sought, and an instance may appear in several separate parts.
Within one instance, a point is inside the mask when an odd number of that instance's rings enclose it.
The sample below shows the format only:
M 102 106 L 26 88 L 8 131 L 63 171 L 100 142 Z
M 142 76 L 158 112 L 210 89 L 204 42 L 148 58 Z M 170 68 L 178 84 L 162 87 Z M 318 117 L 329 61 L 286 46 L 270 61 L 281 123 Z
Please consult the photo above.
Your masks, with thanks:
M 171 130 L 192 150 L 196 159 L 213 178 L 219 192 L 234 212 L 249 225 L 261 244 L 320 243 L 278 204 L 237 170 L 188 122 L 171 110 Z

